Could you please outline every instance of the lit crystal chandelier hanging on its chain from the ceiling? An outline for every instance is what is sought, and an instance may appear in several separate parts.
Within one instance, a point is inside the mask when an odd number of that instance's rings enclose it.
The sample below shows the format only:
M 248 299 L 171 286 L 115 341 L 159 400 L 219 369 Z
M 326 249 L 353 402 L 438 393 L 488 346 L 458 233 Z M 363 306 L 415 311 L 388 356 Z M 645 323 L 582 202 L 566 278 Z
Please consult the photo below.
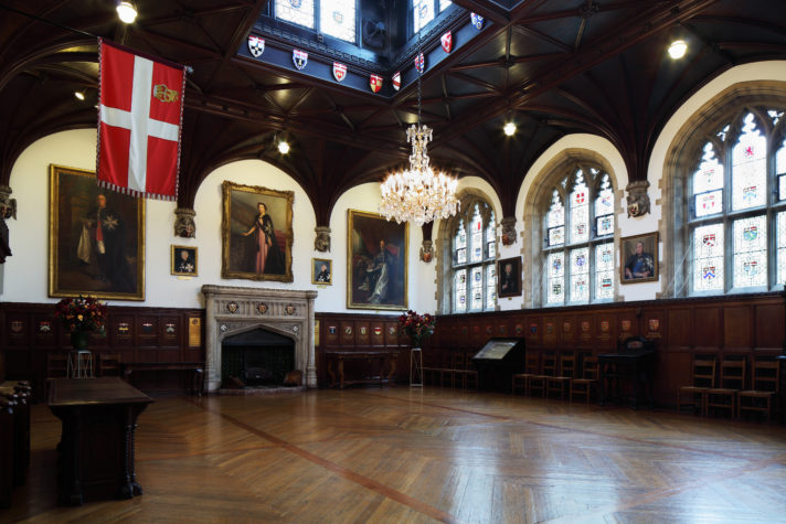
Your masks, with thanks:
M 419 33 L 417 52 L 421 52 Z M 417 77 L 417 124 L 406 130 L 406 141 L 412 143 L 410 169 L 389 174 L 380 190 L 380 213 L 389 221 L 414 222 L 418 226 L 435 218 L 447 218 L 459 208 L 456 199 L 458 181 L 445 173 L 435 173 L 428 164 L 428 142 L 432 129 L 421 124 L 421 76 Z

